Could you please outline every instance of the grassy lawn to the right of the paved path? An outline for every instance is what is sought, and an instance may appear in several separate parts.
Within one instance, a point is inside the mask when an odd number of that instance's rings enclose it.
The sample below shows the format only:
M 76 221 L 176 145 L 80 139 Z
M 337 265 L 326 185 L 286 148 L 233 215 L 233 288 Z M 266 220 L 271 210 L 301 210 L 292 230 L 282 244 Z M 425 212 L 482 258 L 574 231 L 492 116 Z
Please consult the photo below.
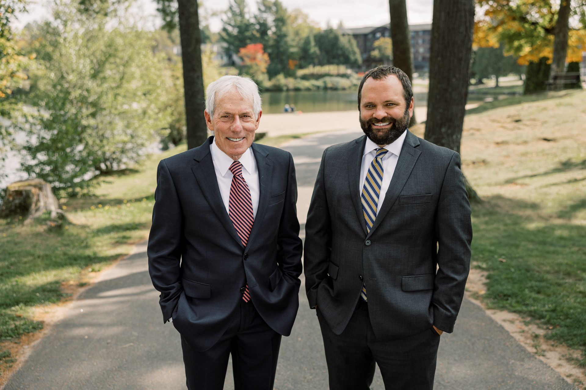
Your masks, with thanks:
M 586 367 L 586 92 L 506 100 L 468 111 L 462 138 L 485 201 L 472 213 L 482 298 L 581 350 Z

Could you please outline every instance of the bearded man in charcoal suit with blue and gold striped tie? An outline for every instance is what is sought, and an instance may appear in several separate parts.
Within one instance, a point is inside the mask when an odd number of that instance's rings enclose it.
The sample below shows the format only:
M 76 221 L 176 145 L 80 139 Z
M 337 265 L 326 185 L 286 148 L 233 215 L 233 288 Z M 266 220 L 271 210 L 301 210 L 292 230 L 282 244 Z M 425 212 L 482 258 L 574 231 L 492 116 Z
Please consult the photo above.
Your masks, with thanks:
M 407 129 L 413 91 L 396 67 L 358 89 L 366 134 L 323 152 L 305 225 L 305 288 L 330 389 L 432 389 L 442 332 L 468 277 L 471 209 L 460 156 Z

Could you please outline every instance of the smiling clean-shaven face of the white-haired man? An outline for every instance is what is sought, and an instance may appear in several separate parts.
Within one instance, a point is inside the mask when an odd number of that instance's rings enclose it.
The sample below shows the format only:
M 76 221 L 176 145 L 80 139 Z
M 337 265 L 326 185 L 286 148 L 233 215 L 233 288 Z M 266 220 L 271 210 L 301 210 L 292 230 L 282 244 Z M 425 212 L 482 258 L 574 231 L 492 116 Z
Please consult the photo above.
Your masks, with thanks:
M 234 161 L 250 147 L 254 132 L 258 129 L 260 116 L 254 118 L 253 102 L 242 98 L 236 89 L 227 92 L 216 104 L 214 116 L 207 110 L 207 128 L 214 132 L 216 145 Z

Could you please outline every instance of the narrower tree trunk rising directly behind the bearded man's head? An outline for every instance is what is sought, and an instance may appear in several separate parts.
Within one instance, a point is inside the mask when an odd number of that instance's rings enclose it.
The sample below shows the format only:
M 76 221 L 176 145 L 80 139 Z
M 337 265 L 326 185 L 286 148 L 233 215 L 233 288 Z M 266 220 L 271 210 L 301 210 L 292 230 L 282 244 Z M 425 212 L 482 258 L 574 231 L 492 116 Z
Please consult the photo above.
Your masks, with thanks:
M 393 65 L 404 71 L 413 83 L 413 55 L 411 53 L 411 33 L 407 22 L 405 0 L 389 0 L 391 14 L 391 39 L 393 40 Z M 415 102 L 417 103 L 417 102 Z M 409 126 L 417 123 L 415 112 Z

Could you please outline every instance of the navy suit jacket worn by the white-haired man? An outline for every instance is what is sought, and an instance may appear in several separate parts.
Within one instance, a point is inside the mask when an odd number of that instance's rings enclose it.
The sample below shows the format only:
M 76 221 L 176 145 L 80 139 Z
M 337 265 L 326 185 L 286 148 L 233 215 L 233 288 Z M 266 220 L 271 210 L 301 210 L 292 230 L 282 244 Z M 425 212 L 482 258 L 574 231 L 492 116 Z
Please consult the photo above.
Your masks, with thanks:
M 291 154 L 252 144 L 260 199 L 244 248 L 214 171 L 210 137 L 202 146 L 165 158 L 157 170 L 148 242 L 149 273 L 161 292 L 163 321 L 203 351 L 239 315 L 248 282 L 251 302 L 276 332 L 288 336 L 299 308 L 302 244 L 297 181 Z

